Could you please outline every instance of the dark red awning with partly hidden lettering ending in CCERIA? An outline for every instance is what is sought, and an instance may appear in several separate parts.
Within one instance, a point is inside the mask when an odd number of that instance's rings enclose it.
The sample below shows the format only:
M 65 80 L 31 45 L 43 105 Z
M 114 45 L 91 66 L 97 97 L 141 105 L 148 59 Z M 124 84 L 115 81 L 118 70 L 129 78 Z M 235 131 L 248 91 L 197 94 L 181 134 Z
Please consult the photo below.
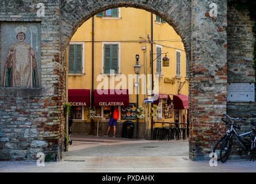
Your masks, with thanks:
M 68 103 L 72 106 L 90 106 L 90 90 L 68 90 Z

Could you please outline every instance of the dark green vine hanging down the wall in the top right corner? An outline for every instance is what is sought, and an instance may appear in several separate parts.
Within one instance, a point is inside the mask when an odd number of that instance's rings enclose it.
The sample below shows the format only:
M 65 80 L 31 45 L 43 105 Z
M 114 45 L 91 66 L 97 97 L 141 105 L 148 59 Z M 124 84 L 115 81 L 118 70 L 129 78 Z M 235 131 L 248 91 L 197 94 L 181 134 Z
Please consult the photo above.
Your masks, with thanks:
M 253 33 L 254 33 L 254 37 L 255 37 L 255 40 L 256 40 L 256 11 L 255 11 L 256 1 L 230 0 L 229 3 L 230 3 L 230 5 L 233 5 L 235 7 L 235 9 L 237 9 L 237 10 L 249 10 L 250 18 L 252 20 L 254 20 Z M 256 41 L 254 41 L 254 52 L 253 52 L 253 54 L 254 54 L 253 67 L 256 70 Z M 255 72 L 255 76 L 256 76 L 256 72 Z

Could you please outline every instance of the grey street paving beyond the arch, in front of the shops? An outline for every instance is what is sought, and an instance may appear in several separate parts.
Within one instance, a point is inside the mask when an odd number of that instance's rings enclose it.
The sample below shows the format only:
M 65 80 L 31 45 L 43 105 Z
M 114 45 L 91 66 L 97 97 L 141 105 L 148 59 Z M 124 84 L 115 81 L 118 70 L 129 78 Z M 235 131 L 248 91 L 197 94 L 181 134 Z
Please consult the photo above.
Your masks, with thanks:
M 188 141 L 74 136 L 65 156 L 188 156 Z

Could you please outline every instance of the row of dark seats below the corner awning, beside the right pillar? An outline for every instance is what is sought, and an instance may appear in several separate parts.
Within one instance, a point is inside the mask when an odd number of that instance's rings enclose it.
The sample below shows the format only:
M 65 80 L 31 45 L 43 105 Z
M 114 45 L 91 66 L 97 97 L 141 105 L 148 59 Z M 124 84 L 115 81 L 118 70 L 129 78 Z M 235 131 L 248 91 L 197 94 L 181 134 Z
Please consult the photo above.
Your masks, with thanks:
M 186 140 L 186 128 L 155 128 L 153 134 L 153 140 Z

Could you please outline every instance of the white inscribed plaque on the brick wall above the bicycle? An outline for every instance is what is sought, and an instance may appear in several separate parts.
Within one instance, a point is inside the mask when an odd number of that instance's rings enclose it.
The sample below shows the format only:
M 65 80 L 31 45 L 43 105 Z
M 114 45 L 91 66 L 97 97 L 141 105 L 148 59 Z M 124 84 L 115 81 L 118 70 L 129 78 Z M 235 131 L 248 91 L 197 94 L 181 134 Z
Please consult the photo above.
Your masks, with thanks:
M 228 102 L 255 102 L 254 83 L 230 83 L 227 91 Z

